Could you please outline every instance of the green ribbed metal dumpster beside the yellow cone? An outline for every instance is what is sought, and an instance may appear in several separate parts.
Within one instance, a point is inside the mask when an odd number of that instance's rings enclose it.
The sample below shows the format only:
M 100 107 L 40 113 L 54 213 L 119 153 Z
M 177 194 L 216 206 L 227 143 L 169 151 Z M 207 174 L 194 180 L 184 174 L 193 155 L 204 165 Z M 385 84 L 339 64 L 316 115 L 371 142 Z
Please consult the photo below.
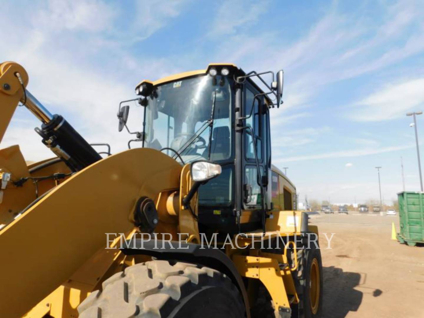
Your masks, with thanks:
M 397 239 L 410 246 L 424 243 L 424 192 L 399 192 L 399 226 Z

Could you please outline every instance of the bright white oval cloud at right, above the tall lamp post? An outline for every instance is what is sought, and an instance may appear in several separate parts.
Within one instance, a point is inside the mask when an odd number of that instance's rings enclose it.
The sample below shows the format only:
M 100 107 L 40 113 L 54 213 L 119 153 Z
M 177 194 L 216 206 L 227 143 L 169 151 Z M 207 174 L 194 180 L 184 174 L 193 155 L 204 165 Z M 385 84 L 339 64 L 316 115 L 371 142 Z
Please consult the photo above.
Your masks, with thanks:
M 422 106 L 423 87 L 424 78 L 388 84 L 355 103 L 349 118 L 356 121 L 382 121 L 403 117 L 408 110 Z

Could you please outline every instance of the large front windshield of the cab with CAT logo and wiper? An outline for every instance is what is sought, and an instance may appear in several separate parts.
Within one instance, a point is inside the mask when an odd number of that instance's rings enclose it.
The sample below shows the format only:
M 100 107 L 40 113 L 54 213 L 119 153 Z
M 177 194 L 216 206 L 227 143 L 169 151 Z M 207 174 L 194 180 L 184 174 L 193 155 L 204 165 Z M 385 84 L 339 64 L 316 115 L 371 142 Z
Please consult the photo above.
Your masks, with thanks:
M 184 163 L 227 161 L 232 158 L 232 99 L 225 76 L 202 75 L 156 86 L 148 97 L 145 147 L 181 161 L 177 151 Z

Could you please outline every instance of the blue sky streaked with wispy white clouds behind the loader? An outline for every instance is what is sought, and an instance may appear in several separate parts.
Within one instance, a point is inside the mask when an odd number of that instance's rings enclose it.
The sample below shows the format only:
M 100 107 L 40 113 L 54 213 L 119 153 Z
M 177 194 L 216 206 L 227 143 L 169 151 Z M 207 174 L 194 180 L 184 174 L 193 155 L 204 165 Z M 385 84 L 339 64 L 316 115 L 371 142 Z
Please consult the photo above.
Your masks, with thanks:
M 376 166 L 384 199 L 396 198 L 401 156 L 407 190 L 419 190 L 405 113 L 424 108 L 421 1 L 17 0 L 2 3 L 0 29 L 0 60 L 21 63 L 40 101 L 114 152 L 129 138 L 117 132 L 117 105 L 140 80 L 231 62 L 285 70 L 273 162 L 289 167 L 301 198 L 377 198 Z M 50 156 L 31 114 L 18 108 L 13 120 L 2 147 Z

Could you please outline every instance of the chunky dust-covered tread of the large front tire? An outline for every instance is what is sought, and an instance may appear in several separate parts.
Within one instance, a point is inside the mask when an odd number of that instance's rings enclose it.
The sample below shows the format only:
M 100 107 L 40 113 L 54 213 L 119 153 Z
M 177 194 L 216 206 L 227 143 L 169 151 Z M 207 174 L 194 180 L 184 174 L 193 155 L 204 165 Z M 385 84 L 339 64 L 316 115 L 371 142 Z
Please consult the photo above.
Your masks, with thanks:
M 79 306 L 80 318 L 167 317 L 184 297 L 204 286 L 221 286 L 244 307 L 232 281 L 223 273 L 195 264 L 153 260 L 129 266 L 93 291 Z

